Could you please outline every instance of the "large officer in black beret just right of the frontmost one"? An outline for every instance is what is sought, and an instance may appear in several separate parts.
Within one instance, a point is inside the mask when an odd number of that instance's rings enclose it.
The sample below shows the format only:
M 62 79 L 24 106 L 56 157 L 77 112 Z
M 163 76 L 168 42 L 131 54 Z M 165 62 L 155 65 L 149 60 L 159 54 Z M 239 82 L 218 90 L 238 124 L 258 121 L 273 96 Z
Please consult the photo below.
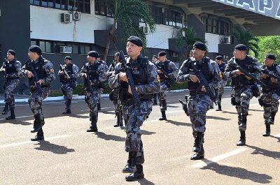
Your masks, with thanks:
M 201 89 L 200 81 L 193 73 L 193 68 L 197 68 L 202 71 L 205 79 L 209 82 L 211 90 L 214 92 L 214 80 L 218 78 L 219 68 L 215 61 L 205 57 L 207 51 L 206 45 L 201 42 L 196 42 L 193 45 L 193 55 L 192 59 L 189 57 L 179 70 L 177 76 L 177 82 L 187 82 L 188 89 L 190 90 L 190 95 L 188 96 L 188 114 L 190 116 L 190 121 L 192 122 L 193 137 L 195 138 L 195 143 L 193 146 L 193 151 L 195 154 L 190 157 L 191 160 L 198 160 L 204 158 L 204 132 L 206 130 L 206 114 L 207 110 L 213 108 L 213 101 L 207 94 L 204 86 Z

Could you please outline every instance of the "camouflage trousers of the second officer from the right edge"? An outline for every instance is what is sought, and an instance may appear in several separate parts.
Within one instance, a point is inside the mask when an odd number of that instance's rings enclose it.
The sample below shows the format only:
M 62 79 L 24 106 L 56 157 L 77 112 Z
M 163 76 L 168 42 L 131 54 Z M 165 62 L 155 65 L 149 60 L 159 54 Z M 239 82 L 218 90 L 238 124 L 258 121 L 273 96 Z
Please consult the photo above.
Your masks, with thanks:
M 238 113 L 238 125 L 241 123 L 246 124 L 251 98 L 253 98 L 253 91 L 250 86 L 235 90 L 235 108 Z

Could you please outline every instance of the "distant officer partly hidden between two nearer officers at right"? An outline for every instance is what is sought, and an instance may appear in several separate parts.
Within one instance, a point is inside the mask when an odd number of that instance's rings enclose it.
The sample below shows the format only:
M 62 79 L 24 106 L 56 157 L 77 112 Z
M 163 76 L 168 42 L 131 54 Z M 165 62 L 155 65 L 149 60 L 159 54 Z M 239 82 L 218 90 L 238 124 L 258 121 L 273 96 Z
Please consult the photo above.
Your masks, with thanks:
M 218 67 L 220 68 L 220 73 L 219 73 L 219 79 L 216 81 L 216 87 L 215 87 L 215 95 L 216 95 L 216 100 L 218 103 L 218 108 L 216 111 L 221 111 L 221 101 L 222 101 L 222 96 L 223 96 L 223 88 L 227 84 L 227 79 L 223 75 L 225 72 L 225 62 L 223 62 L 223 57 L 221 55 L 218 55 L 216 57 L 216 63 L 218 64 Z

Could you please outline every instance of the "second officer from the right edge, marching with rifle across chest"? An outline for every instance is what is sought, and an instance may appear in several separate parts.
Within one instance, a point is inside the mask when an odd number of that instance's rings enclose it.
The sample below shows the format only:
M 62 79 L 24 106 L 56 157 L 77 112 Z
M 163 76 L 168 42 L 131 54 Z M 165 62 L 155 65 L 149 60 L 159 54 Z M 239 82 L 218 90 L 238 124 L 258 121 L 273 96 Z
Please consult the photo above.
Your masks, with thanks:
M 257 59 L 254 59 L 251 56 L 246 54 L 247 47 L 246 45 L 239 44 L 235 46 L 235 51 L 233 52 L 234 57 L 228 61 L 227 66 L 225 67 L 225 77 L 232 79 L 232 87 L 235 90 L 234 98 L 232 100 L 233 105 L 237 109 L 238 113 L 238 125 L 240 132 L 240 140 L 237 142 L 237 146 L 246 145 L 246 124 L 247 124 L 247 115 L 248 107 L 251 98 L 253 96 L 259 96 L 259 90 L 255 82 L 237 70 L 234 63 L 238 64 L 245 71 L 251 74 L 259 74 L 260 66 L 258 65 Z M 256 76 L 257 77 L 257 76 Z

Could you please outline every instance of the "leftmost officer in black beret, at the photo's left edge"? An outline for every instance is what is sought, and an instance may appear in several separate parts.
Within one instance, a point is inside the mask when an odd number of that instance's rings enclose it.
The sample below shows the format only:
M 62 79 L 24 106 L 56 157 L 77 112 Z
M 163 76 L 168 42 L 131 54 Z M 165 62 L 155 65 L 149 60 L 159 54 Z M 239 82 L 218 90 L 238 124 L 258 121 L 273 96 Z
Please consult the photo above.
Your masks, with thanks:
M 13 90 L 20 83 L 18 72 L 22 68 L 20 61 L 15 59 L 15 51 L 8 50 L 7 59 L 3 62 L 3 66 L 0 69 L 1 73 L 4 73 L 4 89 L 5 89 L 5 108 L 2 114 L 7 114 L 10 108 L 10 116 L 6 119 L 15 119 L 15 97 L 13 96 Z

